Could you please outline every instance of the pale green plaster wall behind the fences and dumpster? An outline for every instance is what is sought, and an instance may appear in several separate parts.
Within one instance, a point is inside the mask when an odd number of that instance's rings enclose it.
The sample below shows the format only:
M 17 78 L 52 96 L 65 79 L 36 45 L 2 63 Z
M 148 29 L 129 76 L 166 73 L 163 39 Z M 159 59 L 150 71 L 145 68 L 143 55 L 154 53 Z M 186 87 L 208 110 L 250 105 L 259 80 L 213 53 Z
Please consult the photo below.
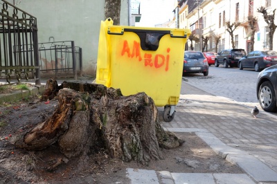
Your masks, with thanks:
M 12 3 L 13 1 L 9 1 Z M 94 75 L 100 21 L 105 20 L 104 0 L 28 0 L 17 7 L 37 17 L 39 42 L 74 41 L 82 48 L 83 71 Z M 127 0 L 122 0 L 120 24 L 128 25 Z

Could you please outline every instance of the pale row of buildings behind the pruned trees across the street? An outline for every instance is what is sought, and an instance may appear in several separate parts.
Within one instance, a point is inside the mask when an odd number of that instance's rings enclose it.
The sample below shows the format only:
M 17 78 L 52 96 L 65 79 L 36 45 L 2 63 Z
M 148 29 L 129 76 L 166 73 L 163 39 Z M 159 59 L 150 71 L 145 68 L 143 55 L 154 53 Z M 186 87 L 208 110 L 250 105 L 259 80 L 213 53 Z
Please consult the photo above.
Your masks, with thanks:
M 254 50 L 269 49 L 269 28 L 262 13 L 258 12 L 261 6 L 267 8 L 269 15 L 277 9 L 277 1 L 272 0 L 181 0 L 178 1 L 179 28 L 190 28 L 195 34 L 193 41 L 194 50 L 202 50 L 202 36 L 208 37 L 208 45 L 204 51 L 220 52 L 226 48 L 232 48 L 231 35 L 226 30 L 226 22 L 230 24 L 239 22 L 239 26 L 233 30 L 235 48 L 244 48 L 250 51 L 251 29 L 248 17 L 256 17 Z M 275 15 L 277 24 L 277 13 Z M 274 34 L 273 50 L 277 51 L 277 33 Z M 215 37 L 220 37 L 216 46 Z M 188 39 L 188 45 L 190 40 Z M 190 50 L 190 48 L 188 48 Z

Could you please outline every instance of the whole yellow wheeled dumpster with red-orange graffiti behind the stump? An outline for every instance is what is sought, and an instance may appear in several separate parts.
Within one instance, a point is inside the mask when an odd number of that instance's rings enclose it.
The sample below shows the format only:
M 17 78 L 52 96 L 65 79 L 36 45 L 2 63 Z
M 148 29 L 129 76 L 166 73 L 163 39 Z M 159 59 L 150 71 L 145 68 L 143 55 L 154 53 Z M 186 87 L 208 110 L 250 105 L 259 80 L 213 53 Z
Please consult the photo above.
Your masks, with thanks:
M 145 92 L 163 120 L 175 115 L 181 91 L 188 29 L 113 26 L 101 21 L 96 83 L 120 89 L 123 95 Z

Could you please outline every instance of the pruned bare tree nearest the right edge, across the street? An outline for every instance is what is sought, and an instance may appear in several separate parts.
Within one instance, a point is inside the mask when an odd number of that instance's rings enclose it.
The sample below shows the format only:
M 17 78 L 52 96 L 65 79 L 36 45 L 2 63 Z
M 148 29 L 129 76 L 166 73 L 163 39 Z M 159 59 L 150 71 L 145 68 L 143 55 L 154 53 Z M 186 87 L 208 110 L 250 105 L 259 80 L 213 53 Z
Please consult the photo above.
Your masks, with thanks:
M 274 24 L 275 11 L 276 9 L 272 11 L 271 15 L 268 15 L 267 9 L 265 7 L 261 6 L 260 8 L 258 8 L 258 12 L 262 13 L 265 22 L 269 27 L 269 50 L 273 49 L 273 36 L 277 27 L 276 24 Z

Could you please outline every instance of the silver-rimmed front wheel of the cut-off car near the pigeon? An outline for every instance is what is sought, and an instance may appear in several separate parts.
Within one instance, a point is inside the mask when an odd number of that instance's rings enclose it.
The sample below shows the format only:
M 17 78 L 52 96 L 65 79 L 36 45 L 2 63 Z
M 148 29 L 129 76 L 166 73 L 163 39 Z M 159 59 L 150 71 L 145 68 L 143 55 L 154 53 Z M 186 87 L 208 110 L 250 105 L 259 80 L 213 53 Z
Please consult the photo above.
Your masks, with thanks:
M 260 85 L 259 102 L 262 109 L 268 112 L 276 112 L 276 97 L 271 82 L 265 81 Z

